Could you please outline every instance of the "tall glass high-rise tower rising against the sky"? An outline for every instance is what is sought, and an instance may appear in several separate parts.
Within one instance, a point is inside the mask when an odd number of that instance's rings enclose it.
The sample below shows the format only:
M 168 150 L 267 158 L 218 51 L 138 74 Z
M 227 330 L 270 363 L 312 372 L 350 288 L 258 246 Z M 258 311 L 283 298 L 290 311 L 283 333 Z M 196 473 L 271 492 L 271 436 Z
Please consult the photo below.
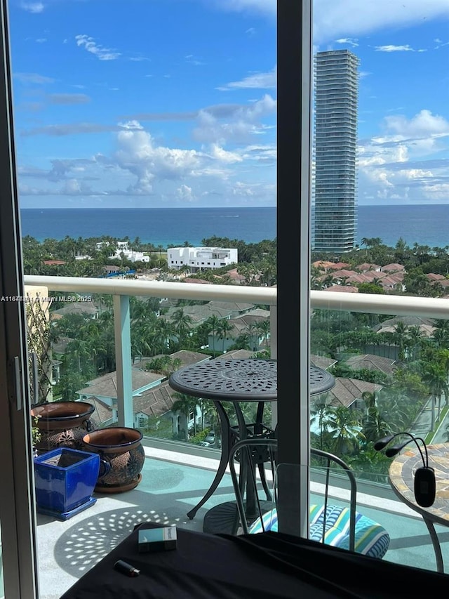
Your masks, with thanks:
M 315 55 L 315 251 L 339 255 L 356 239 L 358 58 L 349 50 Z

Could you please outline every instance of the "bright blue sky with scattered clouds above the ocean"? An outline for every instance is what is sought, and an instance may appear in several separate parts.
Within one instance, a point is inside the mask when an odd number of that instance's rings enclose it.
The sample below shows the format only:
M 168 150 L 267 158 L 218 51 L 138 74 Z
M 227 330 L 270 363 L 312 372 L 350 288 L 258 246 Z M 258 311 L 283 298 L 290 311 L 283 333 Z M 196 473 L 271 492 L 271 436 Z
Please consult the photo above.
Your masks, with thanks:
M 9 0 L 22 208 L 276 205 L 276 0 Z M 358 204 L 449 202 L 449 1 L 314 0 Z

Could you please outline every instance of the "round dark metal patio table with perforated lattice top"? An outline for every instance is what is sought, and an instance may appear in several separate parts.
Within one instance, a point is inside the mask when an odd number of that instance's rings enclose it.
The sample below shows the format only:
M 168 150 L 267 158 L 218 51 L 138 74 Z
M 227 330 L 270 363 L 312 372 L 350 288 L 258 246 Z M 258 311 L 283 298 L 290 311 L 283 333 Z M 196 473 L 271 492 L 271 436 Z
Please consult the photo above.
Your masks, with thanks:
M 191 364 L 175 371 L 169 379 L 171 388 L 203 399 L 213 400 L 220 419 L 222 436 L 222 453 L 215 478 L 203 499 L 187 513 L 189 518 L 194 518 L 196 512 L 213 495 L 215 489 L 222 480 L 229 461 L 232 446 L 239 440 L 246 439 L 248 435 L 273 437 L 274 430 L 264 426 L 263 411 L 265 402 L 276 402 L 277 400 L 277 362 L 276 360 L 261 360 L 248 358 L 246 360 L 215 359 L 200 364 Z M 318 395 L 330 390 L 335 385 L 334 377 L 327 371 L 310 367 L 309 388 L 311 395 Z M 236 414 L 237 426 L 231 426 L 223 402 L 232 402 Z M 254 423 L 247 423 L 244 419 L 240 402 L 257 402 L 257 412 Z M 245 468 L 243 464 L 241 467 Z M 262 484 L 267 492 L 264 478 Z M 252 485 L 250 485 L 252 486 Z M 268 495 L 268 492 L 267 492 Z M 204 518 L 204 532 L 217 532 L 215 517 L 217 511 L 219 532 L 223 532 L 223 520 L 231 522 L 235 520 L 235 503 L 227 502 L 210 510 Z M 251 498 L 248 498 L 251 503 Z M 223 511 L 227 511 L 227 515 Z

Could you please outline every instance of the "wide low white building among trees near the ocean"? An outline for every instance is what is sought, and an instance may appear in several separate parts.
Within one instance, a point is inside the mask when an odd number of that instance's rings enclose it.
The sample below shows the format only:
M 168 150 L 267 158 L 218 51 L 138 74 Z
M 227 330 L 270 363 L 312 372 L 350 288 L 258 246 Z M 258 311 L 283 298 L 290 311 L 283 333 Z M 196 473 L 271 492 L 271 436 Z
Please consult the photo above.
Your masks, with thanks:
M 236 264 L 239 259 L 236 248 L 222 247 L 170 247 L 167 251 L 167 263 L 173 270 L 188 266 L 191 272 L 207 268 L 222 268 Z

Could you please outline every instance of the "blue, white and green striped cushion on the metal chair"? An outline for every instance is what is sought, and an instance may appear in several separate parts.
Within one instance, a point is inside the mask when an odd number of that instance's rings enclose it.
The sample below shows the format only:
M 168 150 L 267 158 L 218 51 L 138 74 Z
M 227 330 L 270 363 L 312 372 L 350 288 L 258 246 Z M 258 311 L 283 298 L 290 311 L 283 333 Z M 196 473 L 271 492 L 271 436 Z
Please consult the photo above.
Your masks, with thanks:
M 349 508 L 328 506 L 323 531 L 324 506 L 310 506 L 309 539 L 349 550 Z M 276 509 L 264 513 L 250 527 L 250 534 L 278 529 Z M 323 535 L 324 532 L 324 535 Z M 323 539 L 324 536 L 324 539 Z M 356 512 L 355 551 L 371 558 L 383 558 L 389 546 L 387 531 L 374 520 Z

